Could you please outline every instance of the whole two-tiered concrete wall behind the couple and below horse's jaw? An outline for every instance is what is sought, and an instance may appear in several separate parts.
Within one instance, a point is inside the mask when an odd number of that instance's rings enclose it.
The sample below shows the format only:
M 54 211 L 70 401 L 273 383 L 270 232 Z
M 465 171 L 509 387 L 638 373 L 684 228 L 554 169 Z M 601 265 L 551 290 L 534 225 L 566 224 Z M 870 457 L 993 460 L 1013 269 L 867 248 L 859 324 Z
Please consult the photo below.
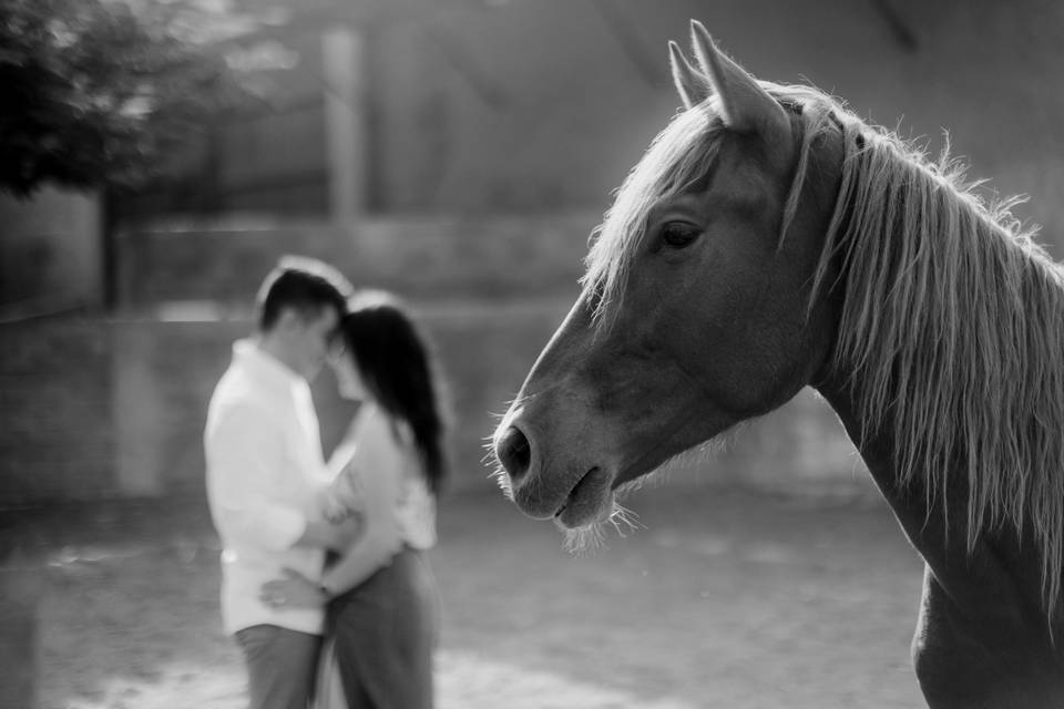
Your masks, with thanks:
M 491 486 L 484 439 L 576 297 L 593 223 L 576 213 L 127 234 L 119 314 L 0 326 L 0 506 L 203 494 L 211 391 L 231 343 L 252 330 L 252 294 L 284 253 L 328 258 L 356 285 L 411 301 L 447 378 L 453 487 Z M 330 450 L 354 411 L 328 371 L 313 391 Z M 833 414 L 808 393 L 672 477 L 871 491 Z

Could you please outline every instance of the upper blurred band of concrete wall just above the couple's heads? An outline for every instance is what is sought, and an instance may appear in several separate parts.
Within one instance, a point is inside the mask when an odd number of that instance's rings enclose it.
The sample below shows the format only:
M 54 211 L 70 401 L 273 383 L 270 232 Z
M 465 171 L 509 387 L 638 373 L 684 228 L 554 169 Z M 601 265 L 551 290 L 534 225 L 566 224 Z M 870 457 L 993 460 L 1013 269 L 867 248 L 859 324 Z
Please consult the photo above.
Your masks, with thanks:
M 350 225 L 213 223 L 120 236 L 120 302 L 246 306 L 279 254 L 325 258 L 358 286 L 411 298 L 522 298 L 575 292 L 600 215 L 389 216 Z

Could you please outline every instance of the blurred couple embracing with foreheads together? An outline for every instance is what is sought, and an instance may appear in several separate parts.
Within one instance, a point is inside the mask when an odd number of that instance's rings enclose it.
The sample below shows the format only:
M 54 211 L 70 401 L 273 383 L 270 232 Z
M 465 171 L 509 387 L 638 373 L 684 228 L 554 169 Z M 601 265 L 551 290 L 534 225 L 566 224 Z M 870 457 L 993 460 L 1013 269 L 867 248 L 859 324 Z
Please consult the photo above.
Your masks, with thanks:
M 252 709 L 432 706 L 436 499 L 444 476 L 436 367 L 406 309 L 282 259 L 207 412 L 207 500 L 222 617 Z M 309 382 L 328 363 L 361 402 L 328 463 Z

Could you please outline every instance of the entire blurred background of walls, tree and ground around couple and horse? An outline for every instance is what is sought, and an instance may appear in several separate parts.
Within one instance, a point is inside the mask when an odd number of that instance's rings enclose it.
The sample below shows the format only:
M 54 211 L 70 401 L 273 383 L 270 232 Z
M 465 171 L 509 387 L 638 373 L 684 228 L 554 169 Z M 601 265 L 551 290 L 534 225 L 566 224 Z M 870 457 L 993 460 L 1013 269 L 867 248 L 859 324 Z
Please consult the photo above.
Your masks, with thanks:
M 406 297 L 448 376 L 441 703 L 918 702 L 919 561 L 811 393 L 637 493 L 648 528 L 592 559 L 482 462 L 611 192 L 679 105 L 666 41 L 690 18 L 758 78 L 932 153 L 949 130 L 1062 255 L 1054 0 L 0 0 L 11 696 L 241 705 L 201 436 L 259 281 L 306 254 Z M 326 451 L 351 415 L 330 377 Z

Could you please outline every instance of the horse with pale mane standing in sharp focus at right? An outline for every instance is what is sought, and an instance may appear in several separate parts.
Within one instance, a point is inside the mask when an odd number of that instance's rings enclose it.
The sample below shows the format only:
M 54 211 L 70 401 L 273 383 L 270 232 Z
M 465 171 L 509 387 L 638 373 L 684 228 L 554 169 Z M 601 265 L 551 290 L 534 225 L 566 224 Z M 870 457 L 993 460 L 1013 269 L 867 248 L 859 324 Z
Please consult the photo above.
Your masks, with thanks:
M 593 530 L 811 387 L 924 561 L 928 705 L 1064 707 L 1064 274 L 945 153 L 690 30 L 694 63 L 669 43 L 684 107 L 492 436 L 508 495 Z

